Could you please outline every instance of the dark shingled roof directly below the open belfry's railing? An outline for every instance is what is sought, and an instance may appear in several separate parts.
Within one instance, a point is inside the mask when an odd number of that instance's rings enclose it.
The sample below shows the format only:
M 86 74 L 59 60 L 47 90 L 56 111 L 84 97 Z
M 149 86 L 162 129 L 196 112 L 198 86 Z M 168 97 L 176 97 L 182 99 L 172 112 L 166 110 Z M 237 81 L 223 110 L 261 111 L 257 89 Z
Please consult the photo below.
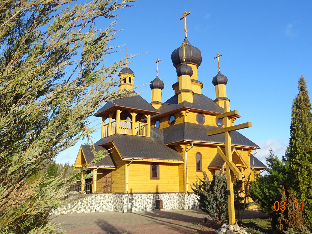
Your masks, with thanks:
M 151 137 L 115 134 L 97 141 L 95 145 L 114 142 L 123 158 L 181 160 L 182 156 L 163 144 L 163 130 L 151 128 Z

